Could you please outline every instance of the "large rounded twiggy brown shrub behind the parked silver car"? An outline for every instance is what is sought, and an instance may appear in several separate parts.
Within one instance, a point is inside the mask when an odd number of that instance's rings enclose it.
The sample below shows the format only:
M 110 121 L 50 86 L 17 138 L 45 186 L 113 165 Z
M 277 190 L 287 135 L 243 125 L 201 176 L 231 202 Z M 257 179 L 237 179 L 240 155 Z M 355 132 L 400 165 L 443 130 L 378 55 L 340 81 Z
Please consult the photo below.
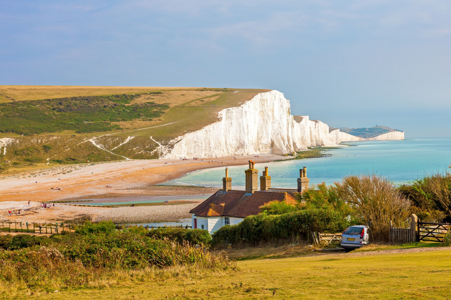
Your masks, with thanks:
M 354 206 L 374 239 L 388 239 L 390 220 L 401 227 L 410 215 L 410 201 L 388 179 L 375 174 L 351 175 L 337 183 L 339 197 Z

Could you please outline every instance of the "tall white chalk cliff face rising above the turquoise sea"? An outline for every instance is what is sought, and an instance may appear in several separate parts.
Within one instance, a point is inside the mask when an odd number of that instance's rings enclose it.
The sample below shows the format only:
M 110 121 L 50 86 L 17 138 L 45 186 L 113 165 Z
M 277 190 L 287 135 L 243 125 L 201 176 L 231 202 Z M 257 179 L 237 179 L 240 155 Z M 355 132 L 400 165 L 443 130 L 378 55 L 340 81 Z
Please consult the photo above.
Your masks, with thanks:
M 390 133 L 391 134 L 391 133 Z M 404 139 L 404 132 L 402 132 Z M 398 139 L 397 137 L 396 139 Z M 219 112 L 219 120 L 161 145 L 163 158 L 222 157 L 259 153 L 289 154 L 308 147 L 363 140 L 332 130 L 308 116 L 292 116 L 290 101 L 276 90 L 257 94 L 239 107 Z

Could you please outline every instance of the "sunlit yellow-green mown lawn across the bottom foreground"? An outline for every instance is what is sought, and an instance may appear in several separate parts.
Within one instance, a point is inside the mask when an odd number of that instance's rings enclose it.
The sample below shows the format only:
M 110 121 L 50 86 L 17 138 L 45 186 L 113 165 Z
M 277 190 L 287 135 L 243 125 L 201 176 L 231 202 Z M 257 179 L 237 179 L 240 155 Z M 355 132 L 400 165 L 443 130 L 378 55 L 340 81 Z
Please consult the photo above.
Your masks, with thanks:
M 451 251 L 239 262 L 226 275 L 140 281 L 15 299 L 449 299 Z M 273 293 L 275 294 L 273 295 Z M 23 292 L 22 292 L 23 293 Z M 6 296 L 6 295 L 1 295 Z

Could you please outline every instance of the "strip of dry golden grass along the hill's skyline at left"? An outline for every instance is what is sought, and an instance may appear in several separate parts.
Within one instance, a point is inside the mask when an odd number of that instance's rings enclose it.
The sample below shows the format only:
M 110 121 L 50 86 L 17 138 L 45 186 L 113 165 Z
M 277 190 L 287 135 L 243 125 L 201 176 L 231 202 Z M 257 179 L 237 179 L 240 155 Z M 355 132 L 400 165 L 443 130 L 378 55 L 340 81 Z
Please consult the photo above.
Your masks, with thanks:
M 163 92 L 195 89 L 198 88 L 158 86 L 0 85 L 0 101 L 11 102 L 14 100 L 40 100 L 75 96 L 104 96 L 112 94 L 140 94 L 155 91 Z

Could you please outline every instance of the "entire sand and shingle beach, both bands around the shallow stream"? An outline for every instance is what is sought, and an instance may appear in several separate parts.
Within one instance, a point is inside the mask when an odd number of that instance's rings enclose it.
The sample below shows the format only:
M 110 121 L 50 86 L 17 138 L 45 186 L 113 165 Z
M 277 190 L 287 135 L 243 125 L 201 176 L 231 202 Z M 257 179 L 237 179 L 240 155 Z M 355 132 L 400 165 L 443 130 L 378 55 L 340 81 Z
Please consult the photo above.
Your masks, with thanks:
M 244 165 L 249 160 L 266 162 L 281 160 L 272 154 L 260 154 L 198 160 L 127 160 L 77 164 L 46 168 L 0 177 L 0 211 L 3 220 L 54 222 L 112 219 L 114 222 L 166 222 L 189 218 L 188 211 L 197 204 L 135 207 L 93 207 L 55 204 L 55 208 L 39 207 L 41 201 L 105 197 L 200 195 L 216 192 L 205 187 L 155 186 L 177 179 L 189 172 L 214 167 Z M 218 178 L 221 181 L 222 178 Z M 111 188 L 106 186 L 110 184 Z M 59 188 L 59 189 L 52 189 Z M 32 201 L 28 207 L 28 200 Z M 200 202 L 202 200 L 198 200 Z M 7 210 L 20 215 L 8 216 Z

